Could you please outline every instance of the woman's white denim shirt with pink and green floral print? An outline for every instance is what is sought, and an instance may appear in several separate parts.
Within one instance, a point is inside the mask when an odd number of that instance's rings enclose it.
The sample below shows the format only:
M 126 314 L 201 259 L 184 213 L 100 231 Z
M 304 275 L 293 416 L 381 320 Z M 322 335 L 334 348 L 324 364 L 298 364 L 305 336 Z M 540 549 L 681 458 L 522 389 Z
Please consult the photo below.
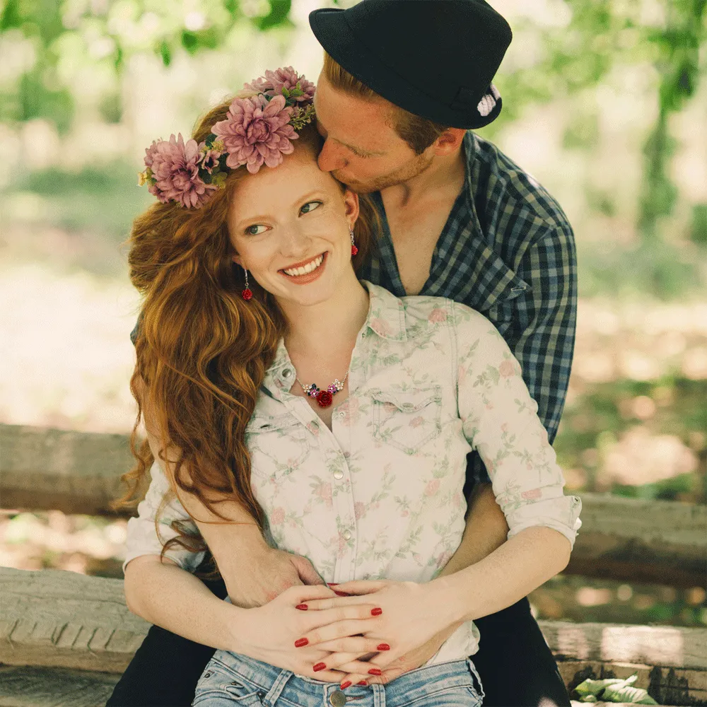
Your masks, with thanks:
M 520 365 L 491 322 L 453 300 L 370 295 L 349 369 L 349 397 L 332 429 L 288 392 L 296 372 L 283 342 L 269 368 L 246 436 L 251 481 L 267 514 L 269 542 L 308 557 L 322 578 L 427 582 L 464 532 L 467 454 L 486 464 L 512 537 L 543 525 L 571 543 L 581 503 L 563 495 L 563 476 L 523 382 Z M 334 403 L 337 399 L 334 398 Z M 157 465 L 128 522 L 127 558 L 159 554 L 155 515 L 170 486 Z M 160 518 L 189 521 L 176 500 Z M 198 532 L 194 526 L 194 532 Z M 193 571 L 203 556 L 167 554 Z M 430 663 L 477 650 L 460 626 Z

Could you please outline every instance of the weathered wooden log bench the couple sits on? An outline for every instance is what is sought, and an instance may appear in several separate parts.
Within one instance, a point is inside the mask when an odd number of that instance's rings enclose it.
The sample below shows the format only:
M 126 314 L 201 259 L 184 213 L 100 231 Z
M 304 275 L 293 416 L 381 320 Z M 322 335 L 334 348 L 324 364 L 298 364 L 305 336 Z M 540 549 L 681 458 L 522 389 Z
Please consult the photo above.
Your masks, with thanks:
M 105 515 L 132 466 L 127 436 L 0 425 L 3 508 Z M 702 585 L 707 508 L 583 495 L 568 572 Z M 104 705 L 149 624 L 122 580 L 0 568 L 0 707 Z M 663 705 L 707 705 L 707 629 L 541 621 L 571 689 L 628 677 Z M 512 679 L 512 676 L 509 676 Z

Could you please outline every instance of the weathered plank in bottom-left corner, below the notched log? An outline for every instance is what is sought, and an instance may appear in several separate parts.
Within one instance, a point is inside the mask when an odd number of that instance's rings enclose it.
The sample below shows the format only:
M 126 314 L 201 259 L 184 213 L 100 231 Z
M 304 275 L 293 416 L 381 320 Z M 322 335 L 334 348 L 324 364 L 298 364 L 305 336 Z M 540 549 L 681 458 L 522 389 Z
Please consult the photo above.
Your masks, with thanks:
M 117 674 L 0 666 L 0 707 L 104 707 Z

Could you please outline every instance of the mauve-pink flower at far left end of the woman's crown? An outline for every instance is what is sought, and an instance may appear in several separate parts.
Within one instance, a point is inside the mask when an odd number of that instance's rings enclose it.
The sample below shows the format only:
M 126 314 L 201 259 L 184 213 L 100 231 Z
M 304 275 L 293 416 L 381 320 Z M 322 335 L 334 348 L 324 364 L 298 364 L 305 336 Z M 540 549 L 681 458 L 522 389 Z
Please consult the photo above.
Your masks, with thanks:
M 199 177 L 201 153 L 196 140 L 187 140 L 186 144 L 179 134 L 170 136 L 169 141 L 153 142 L 145 151 L 145 165 L 151 170 L 155 180 L 149 191 L 163 204 L 170 199 L 179 201 L 183 206 L 199 208 L 208 199 L 215 185 L 204 184 Z

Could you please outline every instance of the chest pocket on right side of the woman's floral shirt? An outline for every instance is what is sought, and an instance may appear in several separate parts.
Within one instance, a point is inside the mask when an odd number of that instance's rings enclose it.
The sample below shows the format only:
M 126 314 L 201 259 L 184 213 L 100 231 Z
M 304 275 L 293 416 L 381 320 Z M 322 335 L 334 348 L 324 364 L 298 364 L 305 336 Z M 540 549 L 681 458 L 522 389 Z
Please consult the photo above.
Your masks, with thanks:
M 416 454 L 442 431 L 439 385 L 411 390 L 371 391 L 373 437 L 406 454 Z

